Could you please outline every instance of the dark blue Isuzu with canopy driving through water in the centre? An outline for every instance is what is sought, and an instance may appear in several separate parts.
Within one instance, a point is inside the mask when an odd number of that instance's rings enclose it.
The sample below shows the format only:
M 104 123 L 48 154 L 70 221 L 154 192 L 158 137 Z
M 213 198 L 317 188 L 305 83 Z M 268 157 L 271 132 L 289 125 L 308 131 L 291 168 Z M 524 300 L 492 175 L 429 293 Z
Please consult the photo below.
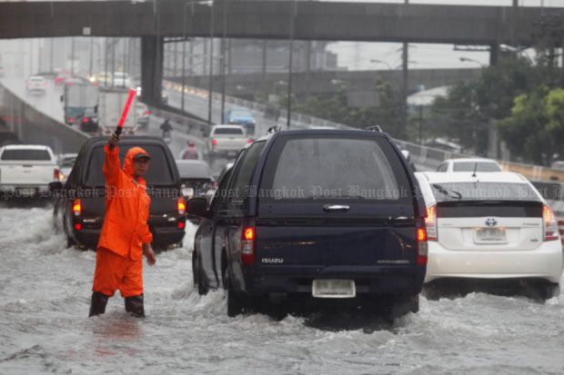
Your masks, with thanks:
M 209 208 L 192 198 L 187 212 L 202 218 L 195 284 L 223 286 L 229 316 L 291 297 L 418 311 L 427 212 L 385 133 L 269 133 L 238 154 Z

